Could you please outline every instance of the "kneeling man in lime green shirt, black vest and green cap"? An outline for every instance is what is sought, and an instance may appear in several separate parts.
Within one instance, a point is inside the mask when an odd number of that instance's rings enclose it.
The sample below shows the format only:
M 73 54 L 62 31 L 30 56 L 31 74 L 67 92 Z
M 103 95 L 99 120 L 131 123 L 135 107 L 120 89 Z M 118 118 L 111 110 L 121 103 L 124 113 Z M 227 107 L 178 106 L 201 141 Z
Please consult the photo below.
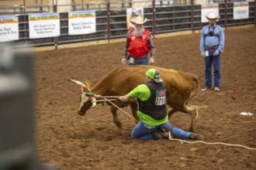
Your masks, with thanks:
M 167 131 L 171 131 L 174 138 L 203 140 L 202 134 L 194 134 L 171 126 L 166 110 L 166 89 L 160 76 L 157 69 L 147 70 L 145 83 L 138 85 L 127 95 L 117 97 L 117 100 L 123 102 L 137 98 L 139 104 L 137 115 L 140 121 L 133 128 L 131 137 L 139 140 L 168 138 Z

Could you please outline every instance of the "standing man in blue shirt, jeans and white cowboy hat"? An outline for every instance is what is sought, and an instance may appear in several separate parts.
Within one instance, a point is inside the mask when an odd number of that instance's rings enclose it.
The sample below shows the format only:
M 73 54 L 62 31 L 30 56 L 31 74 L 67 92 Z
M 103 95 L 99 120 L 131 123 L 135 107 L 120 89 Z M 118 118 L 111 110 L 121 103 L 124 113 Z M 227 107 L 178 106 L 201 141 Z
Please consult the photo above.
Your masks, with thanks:
M 206 15 L 209 25 L 202 28 L 200 39 L 200 53 L 205 59 L 205 88 L 201 91 L 206 91 L 212 88 L 212 65 L 214 69 L 214 90 L 220 91 L 220 54 L 223 53 L 225 36 L 223 29 L 216 25 L 220 19 L 219 15 L 214 12 L 209 12 Z

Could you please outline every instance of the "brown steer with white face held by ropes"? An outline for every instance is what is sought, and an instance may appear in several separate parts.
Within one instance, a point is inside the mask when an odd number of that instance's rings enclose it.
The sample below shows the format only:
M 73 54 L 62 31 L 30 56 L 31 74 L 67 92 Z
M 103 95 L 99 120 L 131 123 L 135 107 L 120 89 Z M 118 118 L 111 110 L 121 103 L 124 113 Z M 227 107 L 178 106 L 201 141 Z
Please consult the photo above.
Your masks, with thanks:
M 164 86 L 167 90 L 167 104 L 172 109 L 168 112 L 168 117 L 174 114 L 176 111 L 181 111 L 186 114 L 190 114 L 192 117 L 189 131 L 194 131 L 195 121 L 199 114 L 199 109 L 196 106 L 190 106 L 189 100 L 199 92 L 199 79 L 192 73 L 183 73 L 181 71 L 164 69 L 157 66 L 119 66 L 108 73 L 99 83 L 91 88 L 91 83 L 85 81 L 81 83 L 78 80 L 71 80 L 71 82 L 78 84 L 81 87 L 81 104 L 78 110 L 78 114 L 84 115 L 90 107 L 95 107 L 99 97 L 92 97 L 86 94 L 92 92 L 101 96 L 119 96 L 125 95 L 137 87 L 140 83 L 145 81 L 145 73 L 150 68 L 157 68 L 161 72 L 161 78 L 164 81 Z M 102 99 L 102 98 L 101 98 Z M 107 102 L 109 104 L 109 102 Z M 137 117 L 137 102 L 131 102 L 129 104 L 123 103 L 119 100 L 114 101 L 119 107 L 126 107 L 130 104 L 133 117 L 138 120 Z M 113 114 L 114 123 L 121 128 L 122 124 L 116 114 L 117 108 L 111 106 L 111 112 Z

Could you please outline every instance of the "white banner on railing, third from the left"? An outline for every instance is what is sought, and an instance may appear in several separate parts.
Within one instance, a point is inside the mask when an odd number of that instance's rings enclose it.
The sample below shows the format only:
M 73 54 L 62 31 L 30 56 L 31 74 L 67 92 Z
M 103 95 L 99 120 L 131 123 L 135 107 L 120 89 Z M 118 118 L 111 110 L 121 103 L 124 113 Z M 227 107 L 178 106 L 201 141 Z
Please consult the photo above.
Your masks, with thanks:
M 68 34 L 90 34 L 96 32 L 95 11 L 68 12 Z

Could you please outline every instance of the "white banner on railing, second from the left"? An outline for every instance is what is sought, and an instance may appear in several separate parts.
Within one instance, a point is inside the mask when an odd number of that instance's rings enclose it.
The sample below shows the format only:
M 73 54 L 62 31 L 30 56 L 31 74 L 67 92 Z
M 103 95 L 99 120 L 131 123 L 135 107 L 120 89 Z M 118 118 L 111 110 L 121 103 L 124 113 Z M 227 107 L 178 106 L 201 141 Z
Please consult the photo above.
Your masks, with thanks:
M 29 14 L 29 38 L 47 38 L 60 36 L 60 14 Z

